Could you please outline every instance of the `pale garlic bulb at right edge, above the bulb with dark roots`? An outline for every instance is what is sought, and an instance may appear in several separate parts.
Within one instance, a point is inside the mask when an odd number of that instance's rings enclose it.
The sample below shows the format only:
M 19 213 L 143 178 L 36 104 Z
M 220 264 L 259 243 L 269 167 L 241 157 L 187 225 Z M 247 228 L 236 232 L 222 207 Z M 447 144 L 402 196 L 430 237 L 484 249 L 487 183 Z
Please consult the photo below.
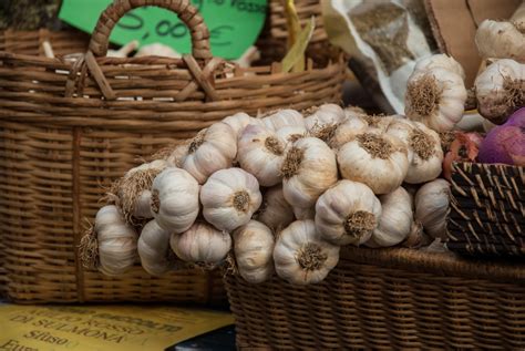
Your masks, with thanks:
M 484 59 L 512 59 L 525 63 L 525 21 L 484 20 L 477 27 L 475 42 Z

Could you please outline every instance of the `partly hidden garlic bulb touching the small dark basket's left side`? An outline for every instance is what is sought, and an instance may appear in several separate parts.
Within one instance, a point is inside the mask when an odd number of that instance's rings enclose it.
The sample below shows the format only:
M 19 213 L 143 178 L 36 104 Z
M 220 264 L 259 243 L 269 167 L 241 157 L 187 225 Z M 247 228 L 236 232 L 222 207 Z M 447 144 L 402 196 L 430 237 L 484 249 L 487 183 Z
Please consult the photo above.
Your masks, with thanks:
M 445 179 L 426 183 L 415 194 L 415 219 L 433 238 L 446 239 L 450 196 L 450 184 Z

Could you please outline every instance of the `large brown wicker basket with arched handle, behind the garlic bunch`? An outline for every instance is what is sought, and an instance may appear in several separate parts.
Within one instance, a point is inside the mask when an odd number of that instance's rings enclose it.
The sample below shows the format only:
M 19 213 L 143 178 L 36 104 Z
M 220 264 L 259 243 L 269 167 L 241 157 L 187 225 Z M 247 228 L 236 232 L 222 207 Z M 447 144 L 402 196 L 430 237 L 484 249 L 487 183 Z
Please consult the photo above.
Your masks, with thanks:
M 193 55 L 104 58 L 114 23 L 145 3 L 181 12 L 191 28 Z M 0 248 L 12 300 L 225 297 L 216 273 L 152 278 L 137 266 L 112 279 L 83 269 L 78 251 L 84 219 L 93 218 L 104 187 L 135 166 L 137 156 L 238 111 L 301 110 L 340 100 L 342 60 L 322 69 L 309 61 L 298 73 L 280 72 L 278 64 L 239 69 L 212 58 L 208 35 L 187 1 L 119 0 L 101 16 L 90 50 L 75 63 L 0 52 Z M 23 48 L 35 48 L 30 39 L 24 42 Z

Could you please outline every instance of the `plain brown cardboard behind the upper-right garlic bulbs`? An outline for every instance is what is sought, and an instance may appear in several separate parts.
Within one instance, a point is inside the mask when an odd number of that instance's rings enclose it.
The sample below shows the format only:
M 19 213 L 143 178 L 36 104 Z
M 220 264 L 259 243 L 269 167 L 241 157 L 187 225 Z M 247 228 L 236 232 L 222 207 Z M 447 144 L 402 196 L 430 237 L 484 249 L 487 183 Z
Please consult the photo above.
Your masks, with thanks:
M 508 19 L 522 0 L 425 0 L 425 9 L 442 52 L 464 68 L 466 86 L 474 83 L 481 58 L 474 42 L 477 25 L 485 19 Z

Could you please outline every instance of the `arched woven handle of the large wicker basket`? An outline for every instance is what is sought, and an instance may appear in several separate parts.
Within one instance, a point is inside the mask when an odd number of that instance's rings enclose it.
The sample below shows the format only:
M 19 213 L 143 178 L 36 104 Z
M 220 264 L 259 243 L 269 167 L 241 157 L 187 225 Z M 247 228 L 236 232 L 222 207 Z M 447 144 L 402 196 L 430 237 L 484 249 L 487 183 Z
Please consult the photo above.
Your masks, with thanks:
M 209 31 L 204 23 L 203 17 L 194 8 L 189 0 L 115 0 L 99 18 L 99 22 L 91 35 L 90 51 L 95 56 L 105 56 L 110 34 L 119 20 L 126 12 L 144 7 L 155 6 L 172 10 L 188 27 L 192 35 L 192 53 L 195 59 L 208 60 L 212 58 L 209 50 Z

